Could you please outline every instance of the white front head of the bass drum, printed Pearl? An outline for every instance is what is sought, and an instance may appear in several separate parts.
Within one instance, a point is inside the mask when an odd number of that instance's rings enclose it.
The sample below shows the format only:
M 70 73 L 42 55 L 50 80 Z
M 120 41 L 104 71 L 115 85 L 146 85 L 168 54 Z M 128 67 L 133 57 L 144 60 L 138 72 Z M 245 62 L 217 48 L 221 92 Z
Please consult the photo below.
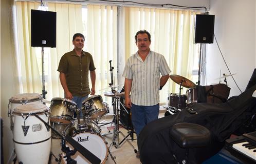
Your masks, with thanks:
M 94 155 L 96 155 L 101 160 L 101 163 L 104 163 L 104 160 L 107 157 L 107 147 L 106 147 L 106 144 L 102 137 L 100 137 L 97 134 L 84 132 L 84 133 L 79 133 L 72 138 L 75 139 L 79 144 L 81 144 L 88 151 L 90 151 Z M 72 146 L 70 146 L 70 145 L 68 145 L 68 146 L 70 148 L 72 148 Z M 74 149 L 74 148 L 72 148 L 72 149 Z M 90 163 L 79 152 L 77 152 L 75 155 L 73 155 L 72 158 L 75 159 L 77 161 L 77 163 Z M 65 162 L 66 162 L 66 160 L 65 160 Z

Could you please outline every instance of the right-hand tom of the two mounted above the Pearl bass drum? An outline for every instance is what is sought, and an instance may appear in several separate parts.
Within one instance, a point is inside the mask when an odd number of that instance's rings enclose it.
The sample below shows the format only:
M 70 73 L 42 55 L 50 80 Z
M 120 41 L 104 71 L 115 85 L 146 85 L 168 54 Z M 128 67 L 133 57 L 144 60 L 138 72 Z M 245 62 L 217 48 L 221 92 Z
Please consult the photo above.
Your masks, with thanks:
M 109 112 L 108 105 L 103 103 L 101 95 L 86 98 L 83 101 L 82 107 L 83 113 L 90 119 L 101 118 Z

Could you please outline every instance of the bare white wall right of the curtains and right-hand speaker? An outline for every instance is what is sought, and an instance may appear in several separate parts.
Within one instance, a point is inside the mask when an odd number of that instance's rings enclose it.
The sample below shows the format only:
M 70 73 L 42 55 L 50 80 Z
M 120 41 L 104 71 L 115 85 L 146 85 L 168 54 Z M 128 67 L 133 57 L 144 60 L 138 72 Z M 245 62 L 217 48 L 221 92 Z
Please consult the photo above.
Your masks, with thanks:
M 211 0 L 210 14 L 215 15 L 214 33 L 226 63 L 243 92 L 256 66 L 255 0 Z M 221 53 L 214 44 L 207 46 L 207 85 L 218 83 L 220 70 L 229 74 Z M 223 82 L 224 79 L 222 79 Z M 232 77 L 227 77 L 230 96 L 240 94 Z

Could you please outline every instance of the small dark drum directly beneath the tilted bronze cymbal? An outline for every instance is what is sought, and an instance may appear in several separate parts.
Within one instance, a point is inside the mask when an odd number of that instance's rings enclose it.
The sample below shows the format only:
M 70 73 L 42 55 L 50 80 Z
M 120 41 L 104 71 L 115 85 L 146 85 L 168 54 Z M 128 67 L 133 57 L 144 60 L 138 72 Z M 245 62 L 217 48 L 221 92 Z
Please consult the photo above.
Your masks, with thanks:
M 168 106 L 185 109 L 186 108 L 186 95 L 180 94 L 180 104 L 179 104 L 179 94 L 177 93 L 170 93 L 168 96 Z M 178 106 L 179 104 L 179 106 Z

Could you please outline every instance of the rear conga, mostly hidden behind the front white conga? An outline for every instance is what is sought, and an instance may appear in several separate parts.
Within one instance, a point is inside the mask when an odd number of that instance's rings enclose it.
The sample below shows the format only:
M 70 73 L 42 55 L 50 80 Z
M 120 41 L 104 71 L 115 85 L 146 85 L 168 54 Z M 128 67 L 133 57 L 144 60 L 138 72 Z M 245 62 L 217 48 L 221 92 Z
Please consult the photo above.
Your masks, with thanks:
M 43 97 L 42 94 L 39 93 L 22 93 L 22 94 L 17 94 L 15 96 L 12 96 L 9 99 L 9 104 L 8 104 L 8 116 L 10 116 L 14 110 L 19 105 L 24 105 L 24 104 L 43 104 L 42 101 Z

